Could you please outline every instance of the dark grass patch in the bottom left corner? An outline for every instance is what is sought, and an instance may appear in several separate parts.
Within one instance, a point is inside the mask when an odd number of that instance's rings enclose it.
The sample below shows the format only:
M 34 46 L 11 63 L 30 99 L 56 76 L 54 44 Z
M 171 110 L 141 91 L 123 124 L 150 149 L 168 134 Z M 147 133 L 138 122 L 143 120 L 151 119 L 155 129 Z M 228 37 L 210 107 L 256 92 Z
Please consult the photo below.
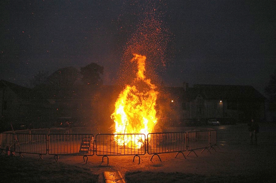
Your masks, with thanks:
M 0 164 L 2 174 L 0 182 L 96 183 L 99 177 L 98 174 L 92 174 L 91 171 L 80 167 L 33 158 L 0 156 Z

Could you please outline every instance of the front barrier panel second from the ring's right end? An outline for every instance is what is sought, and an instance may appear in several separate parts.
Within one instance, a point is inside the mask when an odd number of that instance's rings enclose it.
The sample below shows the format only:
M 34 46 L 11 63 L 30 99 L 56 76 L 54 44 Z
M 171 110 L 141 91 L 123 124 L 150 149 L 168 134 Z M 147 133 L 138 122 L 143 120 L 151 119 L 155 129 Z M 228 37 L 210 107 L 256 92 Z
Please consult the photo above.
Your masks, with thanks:
M 190 131 L 187 133 L 187 150 L 194 152 L 196 149 L 207 149 L 210 147 L 210 131 Z M 203 152 L 202 150 L 202 152 Z M 209 151 L 209 149 L 207 149 Z M 210 152 L 210 151 L 209 151 Z M 194 152 L 196 154 L 196 152 Z M 197 156 L 197 155 L 196 155 Z

